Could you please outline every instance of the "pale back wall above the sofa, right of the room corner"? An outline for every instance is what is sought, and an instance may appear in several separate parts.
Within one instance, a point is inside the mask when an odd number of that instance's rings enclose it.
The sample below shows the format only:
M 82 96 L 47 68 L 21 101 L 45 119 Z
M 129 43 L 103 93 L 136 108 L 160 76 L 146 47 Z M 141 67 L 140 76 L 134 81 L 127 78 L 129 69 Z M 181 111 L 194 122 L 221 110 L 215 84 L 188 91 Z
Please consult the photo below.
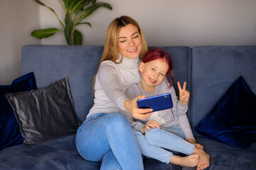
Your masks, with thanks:
M 43 0 L 64 18 L 58 1 Z M 99 0 L 113 10 L 99 8 L 79 26 L 83 45 L 104 45 L 107 26 L 121 15 L 132 16 L 144 30 L 148 45 L 256 45 L 255 0 Z M 40 7 L 41 28 L 61 28 L 48 8 Z M 63 33 L 43 44 L 65 45 Z

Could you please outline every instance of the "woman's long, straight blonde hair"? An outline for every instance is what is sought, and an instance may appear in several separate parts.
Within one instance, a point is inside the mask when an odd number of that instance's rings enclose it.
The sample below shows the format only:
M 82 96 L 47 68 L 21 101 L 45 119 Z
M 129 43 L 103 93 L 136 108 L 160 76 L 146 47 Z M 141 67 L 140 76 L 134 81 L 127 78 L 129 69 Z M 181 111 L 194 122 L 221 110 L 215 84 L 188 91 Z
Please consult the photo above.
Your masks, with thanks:
M 107 37 L 105 41 L 104 51 L 100 60 L 100 64 L 106 60 L 111 60 L 114 63 L 117 63 L 119 50 L 118 50 L 118 35 L 119 30 L 131 23 L 133 26 L 136 26 L 139 30 L 139 34 L 142 38 L 142 51 L 140 52 L 139 58 L 142 60 L 148 47 L 146 45 L 146 40 L 142 32 L 142 28 L 139 26 L 139 23 L 129 16 L 121 16 L 115 18 L 114 21 L 110 23 L 110 26 L 107 28 Z M 120 60 L 122 62 L 122 59 Z

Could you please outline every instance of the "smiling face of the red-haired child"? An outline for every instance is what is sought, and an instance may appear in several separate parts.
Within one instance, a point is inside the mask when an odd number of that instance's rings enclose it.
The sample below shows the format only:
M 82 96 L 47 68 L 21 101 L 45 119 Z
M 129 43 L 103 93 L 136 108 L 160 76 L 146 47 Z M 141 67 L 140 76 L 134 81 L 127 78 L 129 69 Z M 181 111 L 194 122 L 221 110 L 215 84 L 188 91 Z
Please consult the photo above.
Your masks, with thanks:
M 169 65 L 164 59 L 156 59 L 151 62 L 141 62 L 139 71 L 142 72 L 140 85 L 144 91 L 154 91 L 161 84 L 168 72 Z

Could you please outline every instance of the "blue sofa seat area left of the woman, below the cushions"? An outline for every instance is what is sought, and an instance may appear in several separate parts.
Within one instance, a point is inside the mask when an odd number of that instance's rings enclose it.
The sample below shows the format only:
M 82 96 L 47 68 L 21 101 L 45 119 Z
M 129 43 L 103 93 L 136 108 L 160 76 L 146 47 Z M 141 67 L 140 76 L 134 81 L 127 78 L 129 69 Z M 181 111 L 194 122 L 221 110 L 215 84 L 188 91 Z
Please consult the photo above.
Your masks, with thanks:
M 98 170 L 100 163 L 82 159 L 75 147 L 75 135 L 38 145 L 18 145 L 0 152 L 0 169 Z M 15 164 L 14 164 L 15 162 Z

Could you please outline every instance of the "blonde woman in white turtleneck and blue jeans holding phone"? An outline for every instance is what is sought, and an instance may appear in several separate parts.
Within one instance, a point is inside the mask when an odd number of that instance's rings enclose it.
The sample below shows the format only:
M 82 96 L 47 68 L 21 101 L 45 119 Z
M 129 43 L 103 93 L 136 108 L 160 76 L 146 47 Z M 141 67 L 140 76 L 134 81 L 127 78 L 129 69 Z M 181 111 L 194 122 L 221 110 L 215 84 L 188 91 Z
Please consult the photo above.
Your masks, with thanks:
M 146 41 L 137 21 L 121 16 L 107 30 L 105 49 L 95 77 L 94 106 L 78 128 L 76 146 L 81 156 L 102 162 L 101 169 L 143 169 L 142 154 L 131 125 L 120 113 L 129 111 L 134 118 L 147 118 L 151 109 L 136 108 L 125 91 L 138 83 L 139 57 L 147 51 Z

